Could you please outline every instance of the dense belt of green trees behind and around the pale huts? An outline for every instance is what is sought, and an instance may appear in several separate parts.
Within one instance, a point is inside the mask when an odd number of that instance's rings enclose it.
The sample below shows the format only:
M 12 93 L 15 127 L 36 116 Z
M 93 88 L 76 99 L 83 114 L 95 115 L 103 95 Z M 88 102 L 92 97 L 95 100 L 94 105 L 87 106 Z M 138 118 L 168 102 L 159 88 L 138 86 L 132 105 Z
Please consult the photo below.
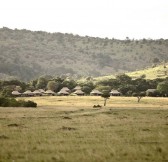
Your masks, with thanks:
M 11 92 L 16 90 L 23 93 L 26 90 L 34 91 L 36 89 L 52 90 L 59 92 L 63 87 L 68 87 L 71 91 L 76 86 L 80 86 L 86 95 L 89 95 L 93 89 L 102 93 L 109 93 L 112 89 L 118 90 L 123 96 L 133 96 L 135 94 L 144 94 L 147 96 L 168 96 L 168 78 L 157 78 L 146 80 L 145 78 L 132 79 L 126 74 L 117 75 L 116 78 L 104 80 L 94 80 L 91 77 L 76 80 L 65 77 L 41 76 L 28 83 L 18 80 L 0 81 L 0 95 L 10 97 Z M 148 91 L 155 89 L 155 91 Z

